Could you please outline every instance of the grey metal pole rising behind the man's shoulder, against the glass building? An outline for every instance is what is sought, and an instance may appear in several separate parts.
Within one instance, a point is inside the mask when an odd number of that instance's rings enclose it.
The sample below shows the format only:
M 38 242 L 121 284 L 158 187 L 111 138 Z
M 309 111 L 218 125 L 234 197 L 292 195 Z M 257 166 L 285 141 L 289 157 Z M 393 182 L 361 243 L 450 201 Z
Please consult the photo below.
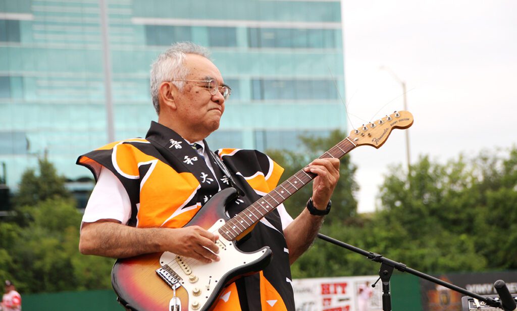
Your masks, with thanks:
M 104 98 L 106 100 L 106 122 L 108 130 L 108 142 L 115 140 L 115 128 L 113 126 L 113 99 L 111 94 L 111 56 L 110 41 L 108 40 L 108 6 L 105 0 L 99 0 L 100 28 L 102 35 L 102 58 L 104 60 Z

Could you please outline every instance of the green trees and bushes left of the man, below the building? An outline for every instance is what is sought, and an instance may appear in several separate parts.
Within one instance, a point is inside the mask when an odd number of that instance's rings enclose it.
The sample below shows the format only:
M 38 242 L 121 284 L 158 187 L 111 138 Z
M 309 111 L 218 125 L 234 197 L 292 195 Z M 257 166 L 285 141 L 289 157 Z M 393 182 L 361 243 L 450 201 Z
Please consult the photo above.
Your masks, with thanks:
M 113 259 L 79 253 L 81 213 L 46 160 L 25 172 L 17 216 L 0 222 L 0 278 L 23 293 L 110 288 Z

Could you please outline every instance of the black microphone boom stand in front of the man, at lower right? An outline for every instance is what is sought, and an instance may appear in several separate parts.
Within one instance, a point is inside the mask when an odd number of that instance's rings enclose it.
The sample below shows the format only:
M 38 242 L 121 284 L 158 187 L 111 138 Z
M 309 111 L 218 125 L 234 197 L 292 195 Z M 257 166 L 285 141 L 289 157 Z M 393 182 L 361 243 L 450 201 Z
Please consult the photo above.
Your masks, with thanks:
M 390 292 L 389 282 L 390 282 L 391 275 L 393 274 L 393 269 L 397 269 L 401 272 L 407 272 L 407 273 L 416 275 L 420 278 L 427 279 L 428 281 L 433 282 L 435 284 L 442 285 L 442 286 L 452 289 L 454 291 L 460 292 L 460 293 L 464 294 L 465 296 L 469 296 L 469 297 L 475 298 L 479 301 L 483 301 L 485 304 L 487 304 L 491 307 L 507 310 L 507 308 L 504 308 L 503 304 L 501 304 L 501 302 L 498 300 L 495 300 L 490 297 L 483 297 L 475 292 L 468 291 L 464 288 L 461 288 L 461 287 L 452 285 L 450 283 L 447 283 L 445 281 L 442 281 L 439 278 L 422 273 L 418 270 L 411 269 L 411 268 L 407 267 L 406 265 L 404 265 L 404 263 L 393 261 L 391 259 L 384 257 L 383 255 L 364 251 L 361 248 L 355 247 L 350 244 L 346 244 L 344 242 L 341 242 L 341 241 L 333 239 L 331 237 L 322 235 L 320 233 L 318 233 L 318 238 L 320 238 L 324 241 L 330 242 L 332 244 L 341 246 L 343 248 L 346 248 L 349 251 L 366 256 L 368 259 L 370 259 L 372 261 L 381 263 L 381 268 L 379 269 L 379 279 L 381 280 L 381 282 L 383 284 L 383 311 L 391 311 L 391 292 Z M 375 284 L 377 284 L 379 279 L 377 279 Z M 374 287 L 375 284 L 373 284 L 372 286 Z M 504 284 L 504 282 L 503 282 L 503 284 Z

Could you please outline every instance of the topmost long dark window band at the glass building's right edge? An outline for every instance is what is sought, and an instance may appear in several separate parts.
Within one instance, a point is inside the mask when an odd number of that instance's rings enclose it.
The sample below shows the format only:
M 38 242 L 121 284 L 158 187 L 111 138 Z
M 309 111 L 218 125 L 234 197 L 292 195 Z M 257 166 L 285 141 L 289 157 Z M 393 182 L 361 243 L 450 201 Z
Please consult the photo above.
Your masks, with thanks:
M 337 29 L 249 28 L 250 48 L 336 49 Z

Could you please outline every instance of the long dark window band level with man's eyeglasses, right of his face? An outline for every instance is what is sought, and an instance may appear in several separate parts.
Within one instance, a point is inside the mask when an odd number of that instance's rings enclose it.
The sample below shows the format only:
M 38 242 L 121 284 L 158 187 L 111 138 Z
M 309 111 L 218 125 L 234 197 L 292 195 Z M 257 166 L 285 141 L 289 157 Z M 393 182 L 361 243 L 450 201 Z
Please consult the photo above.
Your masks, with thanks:
M 329 100 L 338 93 L 332 80 L 251 80 L 253 100 Z

